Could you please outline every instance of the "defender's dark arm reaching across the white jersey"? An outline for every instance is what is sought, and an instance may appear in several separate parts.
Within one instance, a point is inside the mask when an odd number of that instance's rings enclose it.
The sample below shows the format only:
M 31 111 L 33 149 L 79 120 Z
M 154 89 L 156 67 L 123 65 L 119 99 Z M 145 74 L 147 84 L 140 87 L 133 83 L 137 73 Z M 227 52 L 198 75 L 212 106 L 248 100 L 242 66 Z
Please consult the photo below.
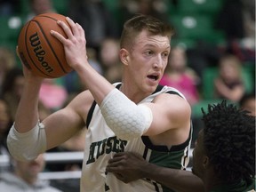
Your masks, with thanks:
M 107 172 L 113 172 L 124 183 L 148 178 L 162 183 L 177 192 L 204 192 L 203 181 L 192 172 L 150 164 L 132 152 L 117 153 L 108 161 Z

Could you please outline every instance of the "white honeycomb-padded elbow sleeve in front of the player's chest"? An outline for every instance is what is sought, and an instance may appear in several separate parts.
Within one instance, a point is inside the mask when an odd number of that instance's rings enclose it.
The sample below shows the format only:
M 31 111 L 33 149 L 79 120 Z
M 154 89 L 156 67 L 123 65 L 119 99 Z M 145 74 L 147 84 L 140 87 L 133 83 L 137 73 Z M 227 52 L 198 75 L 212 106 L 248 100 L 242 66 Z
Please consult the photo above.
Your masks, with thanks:
M 148 106 L 136 105 L 117 89 L 108 93 L 100 109 L 110 129 L 123 140 L 140 137 L 147 132 L 153 120 Z

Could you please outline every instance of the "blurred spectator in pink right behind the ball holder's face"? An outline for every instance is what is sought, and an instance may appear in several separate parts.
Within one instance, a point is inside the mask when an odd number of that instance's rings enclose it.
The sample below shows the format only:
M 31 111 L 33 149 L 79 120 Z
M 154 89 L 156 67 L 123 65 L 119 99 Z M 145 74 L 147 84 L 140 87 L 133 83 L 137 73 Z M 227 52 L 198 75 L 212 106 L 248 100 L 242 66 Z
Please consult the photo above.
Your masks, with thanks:
M 180 47 L 172 48 L 167 67 L 159 84 L 172 86 L 182 92 L 190 105 L 199 101 L 197 84 L 199 77 L 192 68 L 187 66 L 185 50 Z

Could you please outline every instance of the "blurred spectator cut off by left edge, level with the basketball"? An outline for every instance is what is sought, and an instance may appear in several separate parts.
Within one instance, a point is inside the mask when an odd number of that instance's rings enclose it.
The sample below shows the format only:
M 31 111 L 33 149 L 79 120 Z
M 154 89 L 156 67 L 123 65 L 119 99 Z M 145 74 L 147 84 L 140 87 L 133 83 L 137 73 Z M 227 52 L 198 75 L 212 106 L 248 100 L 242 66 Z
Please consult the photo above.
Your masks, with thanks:
M 16 65 L 14 52 L 5 47 L 0 47 L 0 93 L 3 89 L 4 78 L 7 72 Z

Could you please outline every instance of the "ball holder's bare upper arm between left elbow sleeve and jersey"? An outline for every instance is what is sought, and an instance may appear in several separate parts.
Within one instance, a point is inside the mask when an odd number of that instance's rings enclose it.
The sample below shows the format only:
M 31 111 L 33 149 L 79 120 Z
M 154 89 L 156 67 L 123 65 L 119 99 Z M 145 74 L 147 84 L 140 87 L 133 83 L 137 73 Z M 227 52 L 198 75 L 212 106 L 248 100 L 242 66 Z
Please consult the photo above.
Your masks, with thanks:
M 90 92 L 82 92 L 66 108 L 60 109 L 44 119 L 47 149 L 60 145 L 84 128 L 84 121 L 86 121 L 92 101 Z

